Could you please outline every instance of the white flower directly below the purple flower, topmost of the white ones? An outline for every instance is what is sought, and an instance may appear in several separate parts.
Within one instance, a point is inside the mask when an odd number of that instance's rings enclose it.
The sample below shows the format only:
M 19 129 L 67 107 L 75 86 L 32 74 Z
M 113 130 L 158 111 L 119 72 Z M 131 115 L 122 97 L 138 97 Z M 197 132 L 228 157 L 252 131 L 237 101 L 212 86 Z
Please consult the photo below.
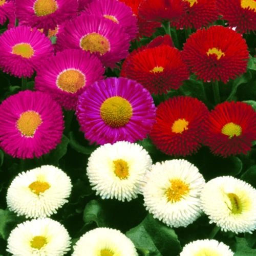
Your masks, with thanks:
M 152 160 L 142 146 L 127 141 L 105 144 L 88 161 L 87 175 L 102 199 L 127 201 L 141 193 L 144 175 Z

